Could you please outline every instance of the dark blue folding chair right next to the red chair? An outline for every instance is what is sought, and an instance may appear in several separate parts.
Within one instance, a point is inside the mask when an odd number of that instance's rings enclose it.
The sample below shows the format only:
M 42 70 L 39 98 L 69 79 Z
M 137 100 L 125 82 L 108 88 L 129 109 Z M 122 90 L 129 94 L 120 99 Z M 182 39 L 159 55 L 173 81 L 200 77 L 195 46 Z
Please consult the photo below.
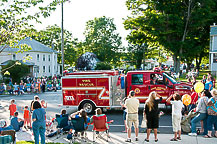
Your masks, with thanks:
M 72 136 L 72 142 L 74 143 L 76 135 L 78 133 L 81 133 L 81 136 L 84 135 L 84 141 L 86 142 L 87 139 L 87 127 L 85 127 L 85 121 L 84 118 L 79 117 L 79 118 L 72 118 L 71 123 L 74 129 L 74 134 Z

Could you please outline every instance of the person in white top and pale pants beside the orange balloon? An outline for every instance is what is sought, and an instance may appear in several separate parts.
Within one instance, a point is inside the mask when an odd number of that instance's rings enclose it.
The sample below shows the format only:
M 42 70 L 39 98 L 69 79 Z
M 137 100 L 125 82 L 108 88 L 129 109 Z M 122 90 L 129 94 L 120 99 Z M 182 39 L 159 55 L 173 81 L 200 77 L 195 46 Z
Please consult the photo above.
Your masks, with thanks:
M 174 101 L 170 101 L 171 99 Z M 172 104 L 172 125 L 174 131 L 174 138 L 170 141 L 177 141 L 181 140 L 181 118 L 182 118 L 182 108 L 184 107 L 183 103 L 181 102 L 181 96 L 177 93 L 171 95 L 167 100 L 167 103 Z M 178 133 L 178 137 L 177 137 Z

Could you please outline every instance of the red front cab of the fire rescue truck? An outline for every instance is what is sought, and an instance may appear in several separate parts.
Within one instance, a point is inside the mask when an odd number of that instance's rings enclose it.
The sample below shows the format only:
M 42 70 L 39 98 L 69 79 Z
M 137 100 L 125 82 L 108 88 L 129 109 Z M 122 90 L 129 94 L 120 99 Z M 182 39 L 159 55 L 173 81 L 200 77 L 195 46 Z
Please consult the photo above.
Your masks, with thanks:
M 126 93 L 134 90 L 141 103 L 147 100 L 150 92 L 156 91 L 163 98 L 161 103 L 166 104 L 171 94 L 191 94 L 191 87 L 190 84 L 177 82 L 166 72 L 130 71 L 126 76 Z

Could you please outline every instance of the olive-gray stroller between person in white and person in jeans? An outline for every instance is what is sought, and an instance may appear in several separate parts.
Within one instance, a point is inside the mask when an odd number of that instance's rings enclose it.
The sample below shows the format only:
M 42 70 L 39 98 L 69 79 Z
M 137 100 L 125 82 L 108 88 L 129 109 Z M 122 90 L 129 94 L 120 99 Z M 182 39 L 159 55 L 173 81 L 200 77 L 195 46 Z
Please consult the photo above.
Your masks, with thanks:
M 181 129 L 184 133 L 190 133 L 191 132 L 191 119 L 195 117 L 198 114 L 198 112 L 194 112 L 191 110 L 187 115 L 185 114 L 181 121 Z

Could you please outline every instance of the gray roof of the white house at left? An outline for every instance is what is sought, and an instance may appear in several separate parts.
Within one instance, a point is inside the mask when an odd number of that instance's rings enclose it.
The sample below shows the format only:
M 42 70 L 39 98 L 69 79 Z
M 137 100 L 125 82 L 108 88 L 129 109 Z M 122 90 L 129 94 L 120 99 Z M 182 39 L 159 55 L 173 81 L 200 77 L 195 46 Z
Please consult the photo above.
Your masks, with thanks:
M 45 46 L 44 44 L 34 40 L 34 39 L 31 39 L 31 38 L 25 38 L 23 40 L 21 40 L 20 42 L 18 42 L 18 45 L 19 44 L 27 44 L 29 46 L 31 46 L 31 50 L 29 50 L 30 52 L 34 51 L 34 52 L 48 52 L 48 53 L 57 53 L 56 50 L 53 50 L 47 46 Z M 4 49 L 4 52 L 16 52 L 18 51 L 19 49 L 18 48 L 11 48 L 11 47 L 7 47 Z

